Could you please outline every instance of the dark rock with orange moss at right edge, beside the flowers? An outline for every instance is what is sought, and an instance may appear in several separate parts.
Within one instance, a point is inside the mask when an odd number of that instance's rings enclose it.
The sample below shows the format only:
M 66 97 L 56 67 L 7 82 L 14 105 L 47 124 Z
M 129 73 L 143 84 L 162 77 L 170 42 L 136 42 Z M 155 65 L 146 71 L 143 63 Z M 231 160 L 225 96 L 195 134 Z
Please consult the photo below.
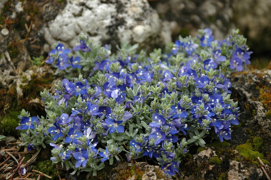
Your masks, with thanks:
M 232 98 L 239 102 L 241 127 L 232 132 L 230 143 L 235 146 L 243 144 L 251 135 L 270 142 L 271 119 L 267 112 L 271 110 L 271 70 L 233 74 L 231 82 Z M 266 143 L 265 149 L 265 153 L 271 152 L 270 143 Z

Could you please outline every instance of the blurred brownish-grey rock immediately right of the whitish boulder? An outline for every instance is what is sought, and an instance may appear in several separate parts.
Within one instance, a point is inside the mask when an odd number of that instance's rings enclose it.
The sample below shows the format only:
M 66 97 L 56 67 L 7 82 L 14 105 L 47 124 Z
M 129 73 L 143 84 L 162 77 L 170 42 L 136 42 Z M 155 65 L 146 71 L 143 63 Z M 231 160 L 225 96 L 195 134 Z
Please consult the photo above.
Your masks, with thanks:
M 150 4 L 161 19 L 170 22 L 175 36 L 193 36 L 198 29 L 211 28 L 222 39 L 234 28 L 231 0 L 158 0 Z

